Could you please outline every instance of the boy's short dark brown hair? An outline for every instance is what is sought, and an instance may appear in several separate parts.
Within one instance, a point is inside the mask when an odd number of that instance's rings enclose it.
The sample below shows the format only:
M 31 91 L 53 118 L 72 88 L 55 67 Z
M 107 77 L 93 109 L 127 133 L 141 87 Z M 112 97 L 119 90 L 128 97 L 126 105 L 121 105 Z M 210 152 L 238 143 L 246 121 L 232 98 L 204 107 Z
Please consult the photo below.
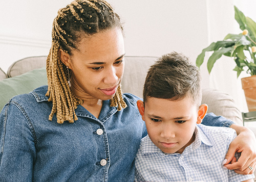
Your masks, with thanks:
M 149 97 L 178 100 L 189 96 L 199 107 L 202 100 L 200 82 L 199 68 L 182 54 L 172 52 L 163 55 L 148 70 L 143 99 L 144 102 Z

